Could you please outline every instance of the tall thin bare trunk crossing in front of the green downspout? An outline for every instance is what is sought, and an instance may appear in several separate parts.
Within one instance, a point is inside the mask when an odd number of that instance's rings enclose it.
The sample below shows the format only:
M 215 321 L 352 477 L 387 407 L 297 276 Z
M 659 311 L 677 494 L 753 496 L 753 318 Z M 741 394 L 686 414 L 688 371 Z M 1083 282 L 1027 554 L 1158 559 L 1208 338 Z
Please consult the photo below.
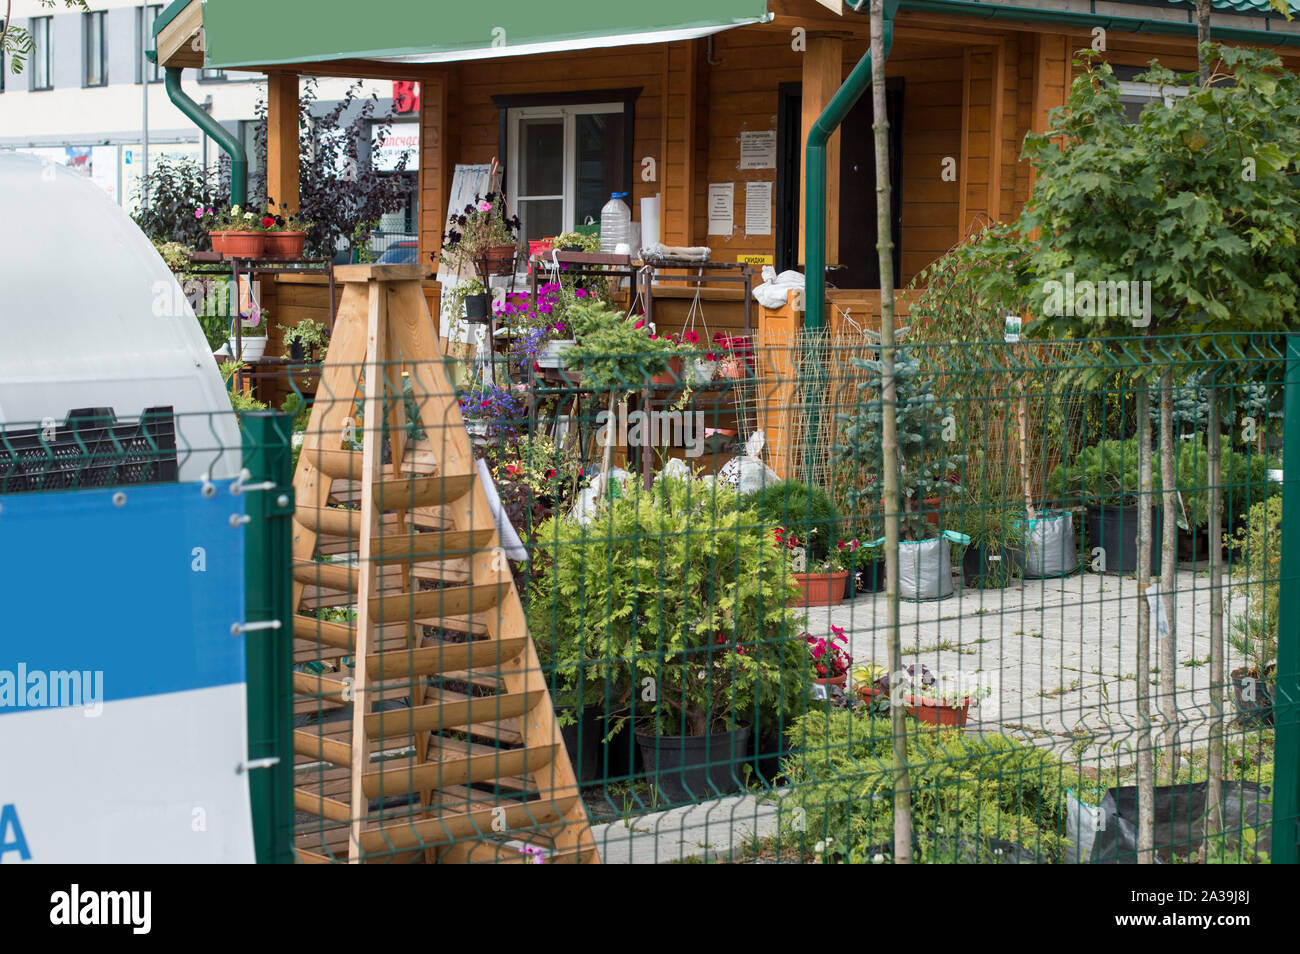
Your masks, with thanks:
M 898 391 L 894 383 L 893 240 L 889 227 L 889 117 L 885 113 L 884 3 L 871 0 L 871 103 L 876 138 L 876 251 L 880 257 L 880 399 L 885 476 L 885 604 L 889 626 L 889 688 L 900 681 L 902 633 L 898 628 Z M 894 863 L 911 863 L 911 785 L 907 780 L 907 723 L 902 706 L 889 707 L 893 732 Z

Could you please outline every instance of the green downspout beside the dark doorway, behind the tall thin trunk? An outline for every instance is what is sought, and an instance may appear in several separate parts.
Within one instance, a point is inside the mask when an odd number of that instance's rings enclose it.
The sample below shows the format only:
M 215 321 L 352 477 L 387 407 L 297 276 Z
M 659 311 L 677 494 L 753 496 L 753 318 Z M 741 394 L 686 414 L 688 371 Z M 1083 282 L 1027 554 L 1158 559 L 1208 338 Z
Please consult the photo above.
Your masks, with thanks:
M 885 0 L 884 49 L 889 56 L 893 45 L 893 14 L 898 0 Z M 826 109 L 809 130 L 807 152 L 803 168 L 807 169 L 807 186 L 803 198 L 803 328 L 822 330 L 826 328 L 826 144 L 835 130 L 844 122 L 862 94 L 871 88 L 871 51 L 867 49 L 844 81 Z

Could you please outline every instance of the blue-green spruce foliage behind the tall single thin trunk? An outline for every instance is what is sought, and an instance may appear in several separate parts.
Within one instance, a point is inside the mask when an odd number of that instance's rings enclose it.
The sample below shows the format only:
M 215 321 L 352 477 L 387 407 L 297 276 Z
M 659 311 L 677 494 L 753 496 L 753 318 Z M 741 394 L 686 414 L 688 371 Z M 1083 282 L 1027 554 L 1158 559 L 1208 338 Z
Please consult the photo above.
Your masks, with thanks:
M 854 357 L 853 364 L 870 372 L 862 382 L 862 396 L 852 415 L 837 415 L 844 424 L 844 443 L 835 448 L 836 460 L 850 468 L 884 472 L 884 364 Z M 910 539 L 932 535 L 932 528 L 919 513 L 926 498 L 940 496 L 948 504 L 961 495 L 957 468 L 966 463 L 958 452 L 957 419 L 953 409 L 935 396 L 935 376 L 923 370 L 920 359 L 901 347 L 894 354 L 894 394 L 898 434 L 898 491 L 905 511 L 901 532 Z M 868 481 L 858 490 L 858 503 L 875 507 L 884 493 L 883 481 Z

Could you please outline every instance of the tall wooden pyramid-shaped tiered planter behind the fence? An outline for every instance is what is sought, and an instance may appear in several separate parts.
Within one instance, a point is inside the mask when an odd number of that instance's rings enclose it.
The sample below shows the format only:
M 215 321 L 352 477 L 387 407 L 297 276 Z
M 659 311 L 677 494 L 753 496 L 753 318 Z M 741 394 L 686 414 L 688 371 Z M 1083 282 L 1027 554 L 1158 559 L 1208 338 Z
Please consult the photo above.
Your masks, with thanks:
M 296 857 L 594 863 L 426 274 L 335 269 L 294 476 Z

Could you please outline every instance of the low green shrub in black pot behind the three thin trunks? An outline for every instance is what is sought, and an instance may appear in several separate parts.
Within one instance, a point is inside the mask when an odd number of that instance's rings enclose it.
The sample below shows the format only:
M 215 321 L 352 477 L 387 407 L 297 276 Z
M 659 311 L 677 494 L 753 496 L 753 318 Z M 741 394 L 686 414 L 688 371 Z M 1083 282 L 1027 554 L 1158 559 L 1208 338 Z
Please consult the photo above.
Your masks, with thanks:
M 1279 485 L 1269 481 L 1271 465 L 1266 455 L 1240 454 L 1232 450 L 1226 434 L 1219 437 L 1219 486 L 1226 517 L 1245 513 L 1260 498 L 1280 493 Z M 1152 471 L 1152 490 L 1158 494 L 1160 468 Z M 1209 521 L 1209 454 L 1204 438 L 1178 442 L 1174 478 L 1188 526 L 1205 526 Z M 1127 507 L 1138 503 L 1138 438 L 1100 441 L 1084 447 L 1074 460 L 1052 471 L 1046 491 L 1049 499 L 1065 504 L 1082 500 Z M 1182 517 L 1179 513 L 1178 519 Z

